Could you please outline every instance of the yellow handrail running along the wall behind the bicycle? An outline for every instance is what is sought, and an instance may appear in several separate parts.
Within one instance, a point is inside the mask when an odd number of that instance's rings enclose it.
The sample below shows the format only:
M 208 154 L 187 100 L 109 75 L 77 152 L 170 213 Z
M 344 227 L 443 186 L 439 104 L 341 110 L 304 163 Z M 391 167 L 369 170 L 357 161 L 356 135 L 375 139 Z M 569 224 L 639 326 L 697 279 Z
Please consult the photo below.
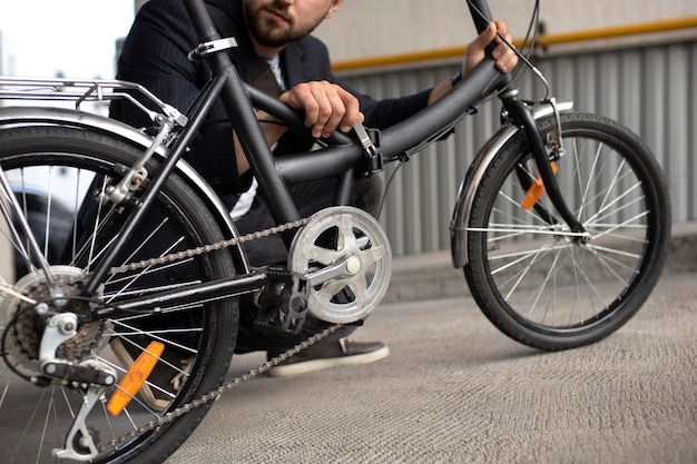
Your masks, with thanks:
M 590 40 L 611 39 L 617 37 L 638 36 L 645 33 L 667 32 L 678 29 L 697 28 L 697 16 L 676 18 L 662 21 L 640 22 L 628 26 L 611 28 L 590 29 L 576 32 L 548 33 L 538 38 L 537 46 L 550 47 L 562 43 L 583 42 Z M 522 46 L 522 39 L 514 40 L 516 47 Z M 355 60 L 337 61 L 332 65 L 334 71 L 345 71 L 380 66 L 402 65 L 406 62 L 436 60 L 444 58 L 461 57 L 465 47 L 450 47 L 438 50 L 416 51 L 411 53 L 390 55 L 383 57 L 361 58 Z

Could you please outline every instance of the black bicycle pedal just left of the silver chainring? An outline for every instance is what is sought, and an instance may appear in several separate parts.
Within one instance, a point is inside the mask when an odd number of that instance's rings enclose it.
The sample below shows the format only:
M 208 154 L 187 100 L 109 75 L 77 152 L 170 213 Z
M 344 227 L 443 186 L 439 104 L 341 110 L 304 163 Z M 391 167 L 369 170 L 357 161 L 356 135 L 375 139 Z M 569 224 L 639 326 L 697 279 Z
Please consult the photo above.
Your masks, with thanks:
M 266 269 L 266 286 L 258 297 L 254 325 L 266 332 L 298 334 L 307 316 L 307 282 L 282 268 Z

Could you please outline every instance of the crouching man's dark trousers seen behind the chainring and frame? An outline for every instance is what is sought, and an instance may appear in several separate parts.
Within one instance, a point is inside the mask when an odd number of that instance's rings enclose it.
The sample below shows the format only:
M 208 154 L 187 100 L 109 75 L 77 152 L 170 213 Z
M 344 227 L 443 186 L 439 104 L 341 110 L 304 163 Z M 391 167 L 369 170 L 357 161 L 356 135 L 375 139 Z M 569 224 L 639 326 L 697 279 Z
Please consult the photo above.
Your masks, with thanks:
M 334 179 L 324 179 L 292 186 L 291 194 L 298 207 L 301 217 L 310 217 L 314 213 L 332 206 L 335 184 Z M 373 176 L 369 179 L 361 179 L 356 182 L 353 190 L 351 206 L 376 216 L 381 196 L 382 180 L 379 177 Z M 239 233 L 244 235 L 273 227 L 275 221 L 268 211 L 264 197 L 257 194 L 249 211 L 237 219 L 235 224 Z M 278 235 L 248 241 L 245 244 L 245 251 L 252 266 L 285 264 L 288 256 L 288 250 Z M 253 324 L 255 308 L 249 307 L 245 298 L 242 298 L 240 303 L 246 304 L 242 304 L 239 308 L 239 332 L 236 353 L 287 349 L 332 325 L 307 315 L 303 329 L 297 335 L 263 332 Z M 355 329 L 356 325 L 345 325 L 327 338 L 324 338 L 323 342 L 345 337 Z

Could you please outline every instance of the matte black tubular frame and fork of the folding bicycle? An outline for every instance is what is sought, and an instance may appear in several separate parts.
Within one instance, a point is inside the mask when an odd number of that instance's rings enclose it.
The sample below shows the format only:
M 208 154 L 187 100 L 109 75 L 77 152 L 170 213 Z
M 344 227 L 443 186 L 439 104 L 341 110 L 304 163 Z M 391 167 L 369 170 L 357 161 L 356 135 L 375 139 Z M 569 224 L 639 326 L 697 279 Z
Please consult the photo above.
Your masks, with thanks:
M 203 0 L 185 0 L 184 3 L 202 43 L 222 39 Z M 469 4 L 477 29 L 481 32 L 488 27 L 489 18 L 491 18 L 488 3 L 485 0 L 469 0 Z M 187 113 L 189 124 L 171 147 L 171 152 L 164 160 L 159 172 L 154 176 L 151 185 L 140 199 L 139 208 L 131 214 L 119 238 L 94 270 L 85 288 L 86 295 L 94 294 L 104 280 L 116 253 L 126 244 L 130 233 L 135 230 L 136 225 L 155 200 L 159 188 L 183 157 L 186 147 L 218 98 L 222 99 L 233 129 L 247 154 L 259 189 L 269 199 L 268 207 L 277 224 L 300 219 L 297 207 L 288 191 L 288 185 L 336 177 L 340 187 L 335 194 L 335 203 L 336 205 L 347 204 L 351 187 L 366 156 L 357 139 L 337 132 L 323 140 L 326 147 L 321 150 L 274 158 L 252 108 L 263 109 L 286 122 L 291 130 L 302 131 L 310 137 L 310 131 L 303 124 L 303 116 L 243 82 L 227 51 L 210 53 L 205 59 L 213 71 L 212 81 L 189 109 Z M 552 204 L 573 231 L 581 231 L 581 225 L 569 211 L 559 191 L 534 120 L 526 106 L 516 98 L 517 89 L 512 85 L 511 76 L 500 72 L 492 59 L 484 59 L 443 98 L 409 119 L 382 130 L 377 147 L 379 156 L 389 160 L 397 159 L 400 155 L 419 146 L 423 140 L 452 127 L 453 121 L 460 120 L 469 109 L 494 91 L 500 93 L 503 106 L 513 121 L 524 128 Z M 289 245 L 292 234 L 284 236 L 284 239 L 286 245 Z M 261 277 L 254 275 L 251 278 L 230 277 L 220 282 L 199 284 L 194 290 L 198 298 L 233 296 L 259 288 L 263 285 L 263 275 Z M 192 295 L 192 289 L 173 290 L 159 296 L 119 302 L 118 305 L 134 310 L 158 306 L 177 300 L 177 298 L 186 300 Z M 95 315 L 106 317 L 112 310 L 115 309 L 102 307 L 97 309 Z

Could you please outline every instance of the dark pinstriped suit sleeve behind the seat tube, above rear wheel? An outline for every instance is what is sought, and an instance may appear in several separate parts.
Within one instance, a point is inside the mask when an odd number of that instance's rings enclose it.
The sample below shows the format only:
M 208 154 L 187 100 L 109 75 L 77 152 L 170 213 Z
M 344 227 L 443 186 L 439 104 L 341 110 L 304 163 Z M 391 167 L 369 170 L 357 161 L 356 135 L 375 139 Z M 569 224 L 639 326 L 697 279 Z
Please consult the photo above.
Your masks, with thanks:
M 138 82 L 165 102 L 186 111 L 208 80 L 209 70 L 204 62 L 192 63 L 187 59 L 198 41 L 183 3 L 171 1 L 166 9 L 161 2 L 159 7 L 156 3 L 148 2 L 140 9 L 124 42 L 117 78 Z M 251 182 L 251 176 L 240 179 L 237 174 L 233 130 L 224 112 L 222 105 L 217 105 L 209 118 L 214 122 L 202 127 L 185 156 L 219 195 L 244 191 Z M 110 115 L 137 128 L 153 124 L 126 100 L 114 101 Z

